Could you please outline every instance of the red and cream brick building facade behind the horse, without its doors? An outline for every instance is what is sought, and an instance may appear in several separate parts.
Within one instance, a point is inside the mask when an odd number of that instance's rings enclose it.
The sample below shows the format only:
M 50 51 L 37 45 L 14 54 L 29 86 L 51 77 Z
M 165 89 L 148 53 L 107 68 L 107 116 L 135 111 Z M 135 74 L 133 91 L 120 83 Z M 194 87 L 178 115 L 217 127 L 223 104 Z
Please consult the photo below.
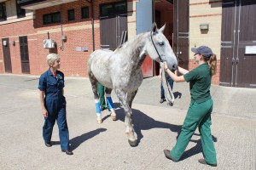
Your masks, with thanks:
M 86 65 L 93 48 L 101 48 L 100 31 L 100 6 L 106 3 L 125 2 L 127 7 L 127 32 L 128 39 L 137 35 L 137 3 L 145 0 L 94 0 L 93 10 L 91 10 L 92 1 L 90 0 L 67 0 L 52 2 L 60 4 L 50 5 L 45 8 L 27 9 L 24 17 L 19 17 L 16 11 L 16 0 L 0 0 L 0 6 L 5 5 L 6 18 L 1 19 L 0 14 L 0 73 L 13 74 L 31 74 L 40 75 L 48 68 L 45 62 L 45 56 L 49 52 L 61 55 L 61 71 L 64 71 L 69 77 L 87 77 Z M 149 0 L 148 0 L 149 1 Z M 42 1 L 44 2 L 44 1 Z M 64 3 L 63 3 L 64 2 Z M 153 1 L 154 4 L 166 4 L 177 2 L 177 0 Z M 189 39 L 188 39 L 188 68 L 195 68 L 193 54 L 190 48 L 207 45 L 218 56 L 217 75 L 212 77 L 212 83 L 218 84 L 220 80 L 220 57 L 221 57 L 221 36 L 222 36 L 222 0 L 191 0 L 189 1 Z M 170 3 L 171 4 L 171 3 Z M 26 6 L 26 5 L 25 5 Z M 157 5 L 155 5 L 157 6 Z M 170 5 L 172 7 L 172 5 Z M 81 8 L 88 8 L 87 18 L 81 18 Z M 68 11 L 73 10 L 74 20 L 68 20 Z M 161 12 L 161 25 L 165 20 L 173 17 L 173 10 L 158 9 Z M 93 22 L 91 20 L 93 11 Z M 3 11 L 2 11 L 3 12 Z M 44 24 L 45 14 L 61 13 L 61 22 Z M 169 22 L 169 20 L 167 21 Z M 175 25 L 175 20 L 171 20 L 168 26 Z M 207 23 L 209 29 L 202 31 L 200 25 Z M 94 27 L 94 31 L 92 28 Z M 170 28 L 168 28 L 169 30 Z M 93 35 L 94 33 L 94 35 Z M 27 48 L 29 58 L 29 72 L 22 69 L 22 57 L 20 57 L 20 37 L 27 37 Z M 62 38 L 65 37 L 65 40 Z M 93 40 L 94 37 L 94 40 Z M 11 71 L 6 71 L 3 51 L 3 40 L 8 38 L 9 56 Z M 67 39 L 66 39 L 67 38 Z M 172 38 L 172 37 L 171 37 Z M 52 39 L 55 41 L 55 48 L 44 48 L 44 40 Z M 156 73 L 154 73 L 155 76 Z

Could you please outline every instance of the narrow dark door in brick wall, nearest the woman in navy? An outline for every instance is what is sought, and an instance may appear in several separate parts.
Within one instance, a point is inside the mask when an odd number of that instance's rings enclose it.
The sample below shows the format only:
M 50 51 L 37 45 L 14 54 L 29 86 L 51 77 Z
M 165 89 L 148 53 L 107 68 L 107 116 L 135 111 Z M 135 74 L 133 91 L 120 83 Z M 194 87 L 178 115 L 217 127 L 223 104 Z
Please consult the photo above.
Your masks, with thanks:
M 27 48 L 27 37 L 19 37 L 20 40 L 20 62 L 22 73 L 30 73 L 29 56 Z

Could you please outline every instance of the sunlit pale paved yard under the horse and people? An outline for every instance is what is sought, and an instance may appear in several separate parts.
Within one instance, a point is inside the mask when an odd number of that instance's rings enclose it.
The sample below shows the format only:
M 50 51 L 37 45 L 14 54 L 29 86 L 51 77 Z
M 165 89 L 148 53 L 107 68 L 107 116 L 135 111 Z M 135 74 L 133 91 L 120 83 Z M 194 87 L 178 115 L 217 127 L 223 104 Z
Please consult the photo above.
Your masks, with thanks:
M 38 97 L 38 77 L 0 75 L 0 169 L 255 169 L 256 89 L 212 85 L 214 110 L 212 138 L 218 167 L 197 162 L 201 141 L 196 131 L 182 160 L 167 160 L 189 106 L 189 84 L 175 83 L 174 105 L 160 104 L 160 81 L 144 79 L 133 103 L 139 144 L 132 148 L 125 137 L 124 111 L 118 121 L 108 111 L 96 124 L 95 104 L 87 78 L 66 78 L 67 122 L 73 156 L 61 152 L 55 126 L 51 148 L 44 146 L 44 118 Z

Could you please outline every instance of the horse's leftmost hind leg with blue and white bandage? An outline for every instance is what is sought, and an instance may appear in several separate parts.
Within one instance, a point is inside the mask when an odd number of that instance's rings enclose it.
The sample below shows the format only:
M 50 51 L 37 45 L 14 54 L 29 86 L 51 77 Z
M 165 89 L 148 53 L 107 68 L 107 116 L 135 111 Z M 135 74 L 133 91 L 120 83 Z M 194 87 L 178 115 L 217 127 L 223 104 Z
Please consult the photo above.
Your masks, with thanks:
M 100 124 L 102 123 L 102 113 L 101 113 L 101 108 L 100 108 L 100 99 L 99 95 L 97 93 L 97 80 L 96 77 L 94 77 L 93 73 L 90 71 L 89 72 L 89 79 L 90 79 L 90 84 L 92 88 L 92 92 L 94 94 L 94 99 L 95 99 L 95 105 L 96 105 L 96 116 L 97 116 L 97 122 Z

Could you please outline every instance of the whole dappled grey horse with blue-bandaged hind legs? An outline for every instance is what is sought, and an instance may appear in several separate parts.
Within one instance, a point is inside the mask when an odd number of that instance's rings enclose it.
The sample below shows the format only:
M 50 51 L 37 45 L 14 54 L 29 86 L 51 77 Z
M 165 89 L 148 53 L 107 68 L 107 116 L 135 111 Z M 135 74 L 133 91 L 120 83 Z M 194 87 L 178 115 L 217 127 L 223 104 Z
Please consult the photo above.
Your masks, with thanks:
M 125 42 L 114 51 L 98 49 L 90 54 L 88 74 L 96 102 L 97 122 L 102 123 L 97 82 L 102 83 L 111 110 L 111 117 L 116 120 L 116 114 L 111 99 L 114 90 L 125 110 L 125 133 L 131 146 L 137 145 L 137 133 L 132 124 L 131 104 L 137 90 L 143 82 L 141 65 L 148 55 L 157 62 L 166 61 L 170 70 L 177 69 L 177 59 L 170 43 L 162 33 L 165 26 L 157 29 L 154 24 L 152 31 L 137 35 Z

